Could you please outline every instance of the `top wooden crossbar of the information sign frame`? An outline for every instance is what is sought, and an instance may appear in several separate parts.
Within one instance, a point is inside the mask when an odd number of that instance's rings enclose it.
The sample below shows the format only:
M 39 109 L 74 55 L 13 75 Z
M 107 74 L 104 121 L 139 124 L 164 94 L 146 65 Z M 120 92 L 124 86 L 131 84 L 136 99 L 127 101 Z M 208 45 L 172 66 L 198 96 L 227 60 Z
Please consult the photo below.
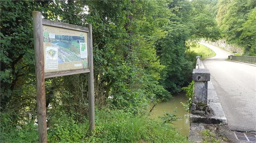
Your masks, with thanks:
M 89 32 L 89 29 L 86 28 L 86 27 L 77 26 L 77 25 L 73 25 L 73 24 L 62 23 L 62 22 L 56 22 L 56 21 L 52 21 L 52 20 L 48 20 L 48 19 L 42 19 L 42 24 L 43 25 L 48 25 L 48 26 L 66 28 L 66 29 L 70 29 L 70 30 Z

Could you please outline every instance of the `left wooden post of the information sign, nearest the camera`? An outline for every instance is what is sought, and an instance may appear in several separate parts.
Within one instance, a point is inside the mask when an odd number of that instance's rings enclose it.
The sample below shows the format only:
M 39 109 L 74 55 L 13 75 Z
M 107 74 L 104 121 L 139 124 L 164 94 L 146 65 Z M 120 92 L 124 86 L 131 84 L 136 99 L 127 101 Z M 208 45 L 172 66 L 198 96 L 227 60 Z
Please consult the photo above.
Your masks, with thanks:
M 44 42 L 41 12 L 33 11 L 34 49 L 35 49 L 35 78 L 37 94 L 37 121 L 39 142 L 47 143 L 46 103 L 44 86 Z

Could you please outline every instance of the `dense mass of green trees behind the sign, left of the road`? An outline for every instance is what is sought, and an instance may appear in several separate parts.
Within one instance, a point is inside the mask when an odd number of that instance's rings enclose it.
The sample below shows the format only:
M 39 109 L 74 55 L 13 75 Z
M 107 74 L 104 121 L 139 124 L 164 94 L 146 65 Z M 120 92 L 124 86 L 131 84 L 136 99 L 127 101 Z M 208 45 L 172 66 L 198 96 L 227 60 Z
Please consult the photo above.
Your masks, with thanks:
M 11 104 L 15 99 L 24 99 L 18 103 L 29 103 L 31 96 L 25 99 L 26 89 L 28 86 L 31 89 L 35 86 L 31 19 L 33 10 L 42 11 L 44 18 L 50 20 L 79 26 L 83 26 L 85 21 L 91 23 L 98 105 L 102 107 L 106 103 L 112 103 L 119 109 L 124 107 L 136 113 L 146 107 L 152 97 L 168 99 L 171 97 L 170 93 L 181 91 L 181 87 L 187 84 L 193 62 L 189 61 L 189 54 L 185 53 L 186 40 L 207 35 L 214 38 L 216 32 L 209 34 L 214 22 L 209 21 L 209 18 L 201 20 L 207 16 L 200 16 L 204 14 L 206 7 L 205 3 L 203 8 L 198 6 L 200 2 L 2 1 L 3 109 L 11 106 L 29 107 L 27 109 L 30 111 L 34 109 L 31 104 Z M 205 23 L 204 26 L 201 26 L 202 23 Z M 203 33 L 204 36 L 198 33 Z M 69 36 L 60 38 L 70 40 Z M 60 101 L 70 106 L 82 100 L 83 104 L 75 107 L 75 111 L 86 105 L 87 76 L 81 74 L 78 80 L 75 78 L 76 76 L 68 76 L 47 79 L 46 105 L 58 106 L 59 103 L 55 101 Z M 81 84 L 79 88 L 75 88 L 78 84 Z M 75 98 L 65 99 L 66 93 L 71 93 Z M 30 94 L 35 94 L 35 90 L 30 91 Z M 112 99 L 107 100 L 108 97 Z M 35 98 L 32 101 L 34 104 Z M 87 109 L 84 109 L 80 111 L 86 112 Z

